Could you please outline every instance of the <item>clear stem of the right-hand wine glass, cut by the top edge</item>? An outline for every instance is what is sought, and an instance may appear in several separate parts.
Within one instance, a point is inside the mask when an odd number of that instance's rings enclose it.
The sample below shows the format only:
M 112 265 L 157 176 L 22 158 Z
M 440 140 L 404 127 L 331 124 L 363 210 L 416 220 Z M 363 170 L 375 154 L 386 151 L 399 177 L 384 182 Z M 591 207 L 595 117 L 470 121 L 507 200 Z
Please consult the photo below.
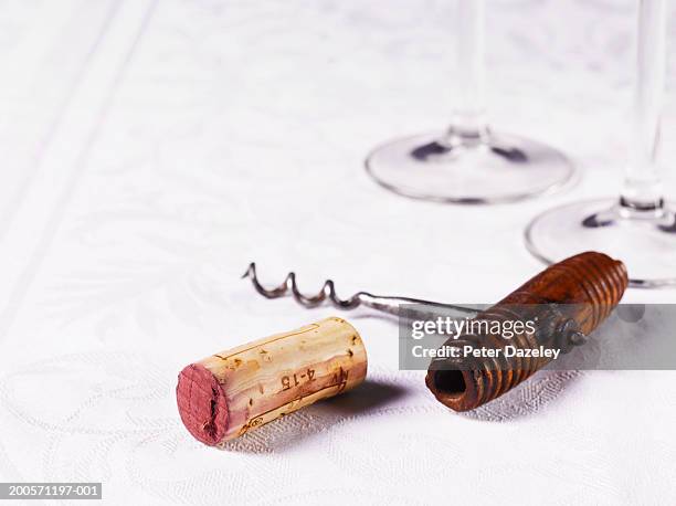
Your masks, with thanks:
M 632 136 L 621 204 L 638 211 L 664 205 L 656 155 L 666 71 L 666 0 L 638 1 Z

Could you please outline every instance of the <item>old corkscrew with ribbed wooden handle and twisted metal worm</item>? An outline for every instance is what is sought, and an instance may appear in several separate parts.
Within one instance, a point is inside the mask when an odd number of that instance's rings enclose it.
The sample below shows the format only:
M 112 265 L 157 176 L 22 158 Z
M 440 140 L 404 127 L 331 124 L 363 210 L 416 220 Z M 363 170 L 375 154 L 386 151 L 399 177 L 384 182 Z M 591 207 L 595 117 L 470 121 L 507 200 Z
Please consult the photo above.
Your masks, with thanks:
M 585 252 L 550 265 L 524 285 L 487 309 L 443 304 L 410 297 L 390 297 L 358 292 L 342 299 L 336 294 L 331 280 L 327 280 L 317 295 L 300 293 L 296 275 L 292 272 L 276 288 L 265 288 L 256 276 L 256 266 L 250 264 L 242 276 L 250 278 L 256 292 L 267 298 L 291 294 L 305 307 L 325 302 L 341 309 L 359 306 L 400 317 L 426 318 L 447 314 L 460 318 L 482 318 L 490 321 L 537 320 L 535 333 L 518 333 L 510 341 L 495 340 L 485 333 L 464 333 L 453 336 L 444 346 L 505 348 L 507 342 L 519 349 L 534 349 L 540 345 L 568 352 L 583 345 L 589 336 L 617 306 L 629 285 L 626 267 L 621 261 L 598 252 Z M 496 399 L 551 361 L 548 357 L 528 358 L 527 355 L 503 355 L 497 358 L 434 359 L 427 369 L 425 383 L 434 397 L 456 411 L 475 409 Z

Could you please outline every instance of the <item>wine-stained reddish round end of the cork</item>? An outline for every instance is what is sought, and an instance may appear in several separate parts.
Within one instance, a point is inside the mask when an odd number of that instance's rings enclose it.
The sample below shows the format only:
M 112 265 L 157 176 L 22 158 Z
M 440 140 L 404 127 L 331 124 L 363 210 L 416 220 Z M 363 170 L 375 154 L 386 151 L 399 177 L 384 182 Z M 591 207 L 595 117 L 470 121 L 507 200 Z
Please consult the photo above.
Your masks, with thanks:
M 228 402 L 216 378 L 204 366 L 191 363 L 180 373 L 176 401 L 188 431 L 210 446 L 221 442 L 228 429 Z

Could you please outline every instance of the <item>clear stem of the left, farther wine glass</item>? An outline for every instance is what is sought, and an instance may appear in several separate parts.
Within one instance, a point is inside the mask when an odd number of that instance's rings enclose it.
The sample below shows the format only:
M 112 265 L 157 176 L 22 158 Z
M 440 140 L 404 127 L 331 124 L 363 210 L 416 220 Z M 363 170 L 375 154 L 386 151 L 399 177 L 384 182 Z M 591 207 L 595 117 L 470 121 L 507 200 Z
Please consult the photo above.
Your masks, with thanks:
M 456 141 L 479 141 L 486 134 L 484 103 L 485 0 L 456 0 L 457 96 L 448 129 Z

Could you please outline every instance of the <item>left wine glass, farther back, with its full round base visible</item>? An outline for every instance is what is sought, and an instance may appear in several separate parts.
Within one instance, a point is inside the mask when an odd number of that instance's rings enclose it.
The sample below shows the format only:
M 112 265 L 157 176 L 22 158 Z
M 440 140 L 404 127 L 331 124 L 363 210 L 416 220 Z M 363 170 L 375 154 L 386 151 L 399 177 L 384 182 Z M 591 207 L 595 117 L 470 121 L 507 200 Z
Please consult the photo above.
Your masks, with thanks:
M 497 203 L 571 179 L 573 167 L 560 151 L 486 124 L 484 11 L 485 0 L 457 0 L 458 101 L 446 131 L 393 140 L 368 156 L 368 173 L 384 188 L 424 200 Z

